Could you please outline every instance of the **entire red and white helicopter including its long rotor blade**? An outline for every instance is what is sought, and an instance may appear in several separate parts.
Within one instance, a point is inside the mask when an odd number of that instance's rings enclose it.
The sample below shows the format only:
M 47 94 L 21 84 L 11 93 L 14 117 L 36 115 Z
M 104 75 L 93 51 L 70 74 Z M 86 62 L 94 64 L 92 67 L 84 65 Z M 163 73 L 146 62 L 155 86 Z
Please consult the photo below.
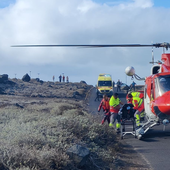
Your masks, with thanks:
M 13 45 L 12 47 L 85 47 L 85 48 L 104 48 L 104 47 L 156 47 L 168 50 L 170 43 L 156 44 L 111 44 L 111 45 Z M 152 60 L 151 75 L 141 78 L 135 74 L 133 67 L 127 67 L 125 73 L 135 77 L 137 80 L 145 81 L 144 85 L 144 107 L 146 121 L 136 132 L 137 138 L 142 136 L 152 127 L 157 125 L 169 124 L 170 120 L 170 53 L 161 56 L 162 62 Z

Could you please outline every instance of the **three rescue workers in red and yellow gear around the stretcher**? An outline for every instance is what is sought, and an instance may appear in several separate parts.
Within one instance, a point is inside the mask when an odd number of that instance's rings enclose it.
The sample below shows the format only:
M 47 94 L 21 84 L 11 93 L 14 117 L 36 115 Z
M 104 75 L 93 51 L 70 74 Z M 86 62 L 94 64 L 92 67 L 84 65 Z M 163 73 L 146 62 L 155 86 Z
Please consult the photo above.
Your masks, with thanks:
M 141 118 L 144 118 L 144 95 L 140 92 L 129 92 L 126 96 L 126 101 L 128 104 L 133 104 L 133 109 L 135 110 L 134 117 L 136 120 L 136 129 L 141 127 L 140 121 Z M 103 99 L 100 102 L 98 107 L 98 112 L 101 109 L 104 111 L 104 118 L 102 119 L 101 124 L 106 120 L 110 127 L 112 127 L 116 122 L 117 133 L 120 133 L 121 127 L 121 112 L 120 108 L 123 103 L 118 97 L 118 93 L 114 93 L 111 98 L 108 98 L 107 95 L 103 95 Z

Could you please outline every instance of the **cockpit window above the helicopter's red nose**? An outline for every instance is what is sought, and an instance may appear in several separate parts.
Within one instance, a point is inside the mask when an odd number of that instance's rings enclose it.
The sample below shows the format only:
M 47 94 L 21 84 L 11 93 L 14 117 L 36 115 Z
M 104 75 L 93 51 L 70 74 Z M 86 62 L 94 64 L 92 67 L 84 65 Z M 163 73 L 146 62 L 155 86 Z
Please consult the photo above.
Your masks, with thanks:
M 161 76 L 156 78 L 156 91 L 158 96 L 162 96 L 167 91 L 170 91 L 170 76 Z

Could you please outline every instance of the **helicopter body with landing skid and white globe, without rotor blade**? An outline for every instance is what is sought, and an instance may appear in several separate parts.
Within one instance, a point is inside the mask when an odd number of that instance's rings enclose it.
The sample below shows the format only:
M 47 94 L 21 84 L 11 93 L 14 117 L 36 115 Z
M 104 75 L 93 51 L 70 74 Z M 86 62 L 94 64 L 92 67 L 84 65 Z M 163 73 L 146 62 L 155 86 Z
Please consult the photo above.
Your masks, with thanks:
M 140 78 L 135 74 L 133 67 L 127 67 L 125 72 L 128 76 L 134 76 L 137 80 L 144 80 L 144 106 L 146 122 L 142 125 L 142 131 L 138 131 L 137 137 L 150 128 L 157 125 L 169 124 L 170 120 L 170 54 L 163 53 L 162 62 L 157 62 L 151 68 L 151 75 Z

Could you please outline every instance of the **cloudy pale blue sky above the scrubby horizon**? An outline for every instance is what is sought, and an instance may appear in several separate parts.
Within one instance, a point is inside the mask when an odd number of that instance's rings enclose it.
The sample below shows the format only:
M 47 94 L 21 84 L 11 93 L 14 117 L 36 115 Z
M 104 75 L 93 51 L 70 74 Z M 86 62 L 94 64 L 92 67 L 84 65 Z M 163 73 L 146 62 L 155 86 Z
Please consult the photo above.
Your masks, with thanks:
M 152 44 L 170 39 L 167 0 L 0 0 L 0 74 L 95 85 L 100 73 L 130 84 L 150 75 L 151 48 L 14 48 L 24 44 Z M 155 60 L 163 50 L 154 48 Z M 167 51 L 169 52 L 169 51 Z M 143 82 L 135 80 L 137 84 Z

